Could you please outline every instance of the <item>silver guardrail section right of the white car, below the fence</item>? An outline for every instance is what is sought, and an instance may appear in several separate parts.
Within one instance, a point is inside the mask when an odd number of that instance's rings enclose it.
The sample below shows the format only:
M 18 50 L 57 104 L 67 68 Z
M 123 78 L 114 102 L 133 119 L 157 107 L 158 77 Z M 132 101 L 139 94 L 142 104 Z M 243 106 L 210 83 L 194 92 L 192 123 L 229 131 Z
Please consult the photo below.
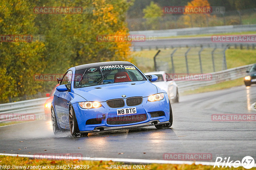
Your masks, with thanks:
M 186 91 L 197 89 L 203 86 L 209 86 L 212 84 L 217 84 L 224 81 L 235 80 L 246 75 L 246 71 L 251 68 L 254 64 L 230 68 L 227 70 L 222 70 L 214 73 L 207 73 L 212 74 L 212 80 L 209 81 L 175 81 L 179 87 L 179 91 Z

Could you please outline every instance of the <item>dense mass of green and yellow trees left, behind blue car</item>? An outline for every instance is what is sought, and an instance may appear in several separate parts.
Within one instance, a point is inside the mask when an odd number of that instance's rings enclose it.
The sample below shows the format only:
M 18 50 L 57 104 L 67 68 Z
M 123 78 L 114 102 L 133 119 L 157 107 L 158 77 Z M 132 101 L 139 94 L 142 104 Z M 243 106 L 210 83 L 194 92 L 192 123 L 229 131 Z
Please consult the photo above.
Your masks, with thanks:
M 82 7 L 78 14 L 38 14 L 34 7 Z M 35 74 L 64 74 L 76 65 L 131 61 L 131 42 L 100 42 L 98 35 L 129 35 L 126 0 L 2 0 L 3 35 L 40 34 L 44 41 L 0 42 L 0 102 L 8 97 L 50 92 L 57 81 L 35 81 Z

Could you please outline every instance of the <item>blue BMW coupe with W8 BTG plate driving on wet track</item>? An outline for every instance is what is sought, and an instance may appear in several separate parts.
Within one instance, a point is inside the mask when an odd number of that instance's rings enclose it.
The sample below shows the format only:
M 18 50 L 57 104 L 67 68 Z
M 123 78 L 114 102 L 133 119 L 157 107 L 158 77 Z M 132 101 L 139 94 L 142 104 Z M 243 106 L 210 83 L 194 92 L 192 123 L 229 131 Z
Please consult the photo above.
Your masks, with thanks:
M 57 79 L 51 104 L 54 134 L 70 129 L 72 136 L 155 125 L 172 126 L 167 92 L 126 61 L 84 64 Z

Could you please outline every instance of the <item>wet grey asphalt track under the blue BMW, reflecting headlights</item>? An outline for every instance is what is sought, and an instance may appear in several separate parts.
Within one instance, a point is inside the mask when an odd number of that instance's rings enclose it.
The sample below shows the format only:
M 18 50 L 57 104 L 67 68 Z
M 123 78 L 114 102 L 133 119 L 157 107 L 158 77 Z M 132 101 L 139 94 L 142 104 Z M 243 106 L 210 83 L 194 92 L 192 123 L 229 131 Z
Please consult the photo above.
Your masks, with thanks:
M 54 136 L 50 121 L 0 127 L 0 153 L 81 153 L 84 157 L 134 159 L 163 159 L 164 153 L 212 153 L 212 161 L 216 156 L 242 160 L 250 155 L 255 159 L 256 122 L 211 120 L 212 114 L 254 114 L 250 110 L 254 102 L 255 85 L 181 96 L 180 103 L 172 104 L 172 128 L 163 130 L 151 126 L 73 138 L 69 132 Z

